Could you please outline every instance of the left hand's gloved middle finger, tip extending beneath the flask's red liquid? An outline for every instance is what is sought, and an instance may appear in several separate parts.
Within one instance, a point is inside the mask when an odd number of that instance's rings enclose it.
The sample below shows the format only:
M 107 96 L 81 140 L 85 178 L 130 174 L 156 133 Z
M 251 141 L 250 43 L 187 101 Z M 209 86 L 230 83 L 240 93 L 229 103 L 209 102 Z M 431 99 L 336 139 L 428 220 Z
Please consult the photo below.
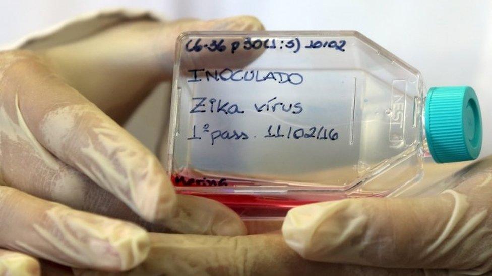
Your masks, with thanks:
M 8 129 L 7 124 L 3 126 Z M 169 219 L 158 223 L 145 222 L 113 194 L 71 166 L 51 157 L 36 140 L 23 137 L 22 134 L 12 133 L 17 135 L 15 141 L 4 137 L 0 143 L 0 175 L 10 187 L 79 210 L 132 221 L 155 232 L 214 235 L 245 233 L 239 216 L 223 204 L 186 195 L 177 196 L 176 212 Z M 43 152 L 46 154 L 40 154 Z M 26 170 L 26 167 L 30 169 Z

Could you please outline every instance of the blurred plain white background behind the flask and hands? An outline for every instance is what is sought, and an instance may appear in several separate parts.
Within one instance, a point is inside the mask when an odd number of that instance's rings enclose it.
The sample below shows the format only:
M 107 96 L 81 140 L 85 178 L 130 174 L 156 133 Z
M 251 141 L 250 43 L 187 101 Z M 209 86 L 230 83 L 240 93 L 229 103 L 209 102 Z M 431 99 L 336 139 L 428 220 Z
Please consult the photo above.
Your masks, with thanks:
M 3 1 L 0 45 L 80 13 L 113 7 L 152 9 L 168 19 L 249 14 L 267 30 L 360 31 L 419 69 L 427 87 L 474 87 L 483 117 L 481 157 L 492 154 L 492 1 Z M 127 126 L 151 147 L 159 124 L 141 122 L 149 122 L 155 114 L 149 111 L 159 108 L 155 99 L 161 98 L 152 97 Z

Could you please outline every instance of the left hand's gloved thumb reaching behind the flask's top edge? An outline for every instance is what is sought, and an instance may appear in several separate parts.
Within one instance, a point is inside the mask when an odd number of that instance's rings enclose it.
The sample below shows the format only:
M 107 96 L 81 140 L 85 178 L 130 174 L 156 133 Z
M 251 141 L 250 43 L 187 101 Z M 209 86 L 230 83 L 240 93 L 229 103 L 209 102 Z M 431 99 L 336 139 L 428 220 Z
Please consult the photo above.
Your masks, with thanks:
M 72 87 L 111 118 L 123 122 L 157 83 L 171 78 L 180 33 L 262 29 L 258 19 L 250 16 L 131 22 L 87 39 L 44 49 L 40 54 Z M 203 52 L 200 54 L 204 56 Z

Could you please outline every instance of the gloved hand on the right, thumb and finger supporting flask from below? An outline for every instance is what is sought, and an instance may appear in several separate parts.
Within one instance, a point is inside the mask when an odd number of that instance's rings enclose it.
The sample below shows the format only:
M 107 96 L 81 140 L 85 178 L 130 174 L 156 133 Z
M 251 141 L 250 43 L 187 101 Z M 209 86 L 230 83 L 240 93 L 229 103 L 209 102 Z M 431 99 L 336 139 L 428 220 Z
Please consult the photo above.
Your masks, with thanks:
M 349 199 L 294 208 L 284 222 L 283 237 L 150 233 L 148 258 L 115 274 L 489 274 L 492 156 L 436 185 L 454 188 L 434 198 Z

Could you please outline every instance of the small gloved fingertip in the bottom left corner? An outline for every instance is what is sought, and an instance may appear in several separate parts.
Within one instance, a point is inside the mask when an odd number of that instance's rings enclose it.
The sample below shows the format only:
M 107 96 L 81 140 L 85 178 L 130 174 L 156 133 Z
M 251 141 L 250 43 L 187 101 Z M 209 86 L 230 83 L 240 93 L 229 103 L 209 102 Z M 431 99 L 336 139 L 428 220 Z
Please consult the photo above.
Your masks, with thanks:
M 0 275 L 36 276 L 40 274 L 39 262 L 35 258 L 0 249 Z

